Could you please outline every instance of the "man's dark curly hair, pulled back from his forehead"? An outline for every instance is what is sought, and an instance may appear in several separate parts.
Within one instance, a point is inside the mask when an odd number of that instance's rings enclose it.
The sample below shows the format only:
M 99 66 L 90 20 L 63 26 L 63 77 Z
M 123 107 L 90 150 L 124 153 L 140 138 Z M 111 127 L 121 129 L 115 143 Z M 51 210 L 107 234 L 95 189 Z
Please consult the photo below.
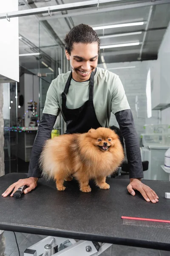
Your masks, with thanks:
M 78 26 L 73 27 L 68 34 L 65 36 L 65 49 L 71 55 L 73 49 L 73 44 L 82 43 L 82 44 L 98 44 L 98 53 L 100 51 L 100 39 L 97 33 L 92 29 L 91 26 L 85 24 L 79 24 Z

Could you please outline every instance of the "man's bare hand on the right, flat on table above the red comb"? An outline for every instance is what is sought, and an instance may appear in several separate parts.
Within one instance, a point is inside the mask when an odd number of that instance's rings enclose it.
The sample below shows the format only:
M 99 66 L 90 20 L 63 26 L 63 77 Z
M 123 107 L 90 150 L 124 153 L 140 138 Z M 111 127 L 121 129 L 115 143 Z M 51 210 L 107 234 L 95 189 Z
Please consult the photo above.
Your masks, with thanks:
M 149 186 L 144 185 L 141 182 L 141 179 L 130 179 L 127 190 L 131 195 L 135 195 L 133 189 L 138 190 L 147 202 L 151 201 L 153 203 L 156 203 L 159 201 L 159 197 L 156 195 L 156 193 Z

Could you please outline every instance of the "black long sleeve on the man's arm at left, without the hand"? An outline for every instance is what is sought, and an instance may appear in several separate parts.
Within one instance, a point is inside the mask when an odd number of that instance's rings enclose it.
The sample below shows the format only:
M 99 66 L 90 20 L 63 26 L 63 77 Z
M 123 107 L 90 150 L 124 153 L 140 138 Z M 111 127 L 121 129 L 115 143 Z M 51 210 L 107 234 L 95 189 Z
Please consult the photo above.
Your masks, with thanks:
M 41 170 L 39 168 L 39 158 L 42 152 L 43 145 L 46 140 L 51 137 L 51 131 L 54 127 L 57 116 L 51 114 L 42 114 L 40 123 L 38 125 L 37 135 L 34 140 L 34 145 L 31 152 L 29 162 L 28 177 L 41 177 Z

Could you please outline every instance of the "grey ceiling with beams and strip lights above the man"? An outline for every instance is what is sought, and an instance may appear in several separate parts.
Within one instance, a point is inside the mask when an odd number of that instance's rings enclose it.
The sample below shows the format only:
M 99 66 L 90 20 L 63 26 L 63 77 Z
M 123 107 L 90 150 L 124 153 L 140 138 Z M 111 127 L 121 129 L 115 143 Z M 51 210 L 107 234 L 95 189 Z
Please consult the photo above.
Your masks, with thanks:
M 19 10 L 80 1 L 19 0 Z M 150 3 L 154 5 L 150 6 Z M 99 36 L 104 37 L 101 38 L 101 46 L 139 43 L 135 46 L 101 49 L 105 63 L 156 59 L 162 38 L 170 22 L 170 0 L 119 0 L 108 5 L 99 4 L 98 11 L 96 7 L 93 7 L 53 12 L 51 17 L 48 14 L 19 17 L 19 33 L 22 36 L 20 53 L 38 52 L 37 47 L 40 44 L 45 61 L 51 59 L 61 61 L 59 45 L 64 46 L 63 38 L 73 26 L 79 23 L 96 27 L 136 22 L 144 22 L 144 24 L 96 30 Z M 99 58 L 99 63 L 101 61 Z M 20 63 L 28 69 L 38 68 L 36 56 L 20 57 Z

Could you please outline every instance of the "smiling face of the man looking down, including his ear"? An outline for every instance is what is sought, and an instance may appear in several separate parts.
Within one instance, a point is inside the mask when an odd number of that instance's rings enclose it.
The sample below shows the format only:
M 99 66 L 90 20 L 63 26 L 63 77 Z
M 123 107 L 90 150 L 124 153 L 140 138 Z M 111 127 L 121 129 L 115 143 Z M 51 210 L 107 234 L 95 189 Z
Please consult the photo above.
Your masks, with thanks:
M 65 55 L 72 67 L 72 77 L 78 82 L 90 79 L 91 72 L 97 66 L 98 44 L 74 43 L 71 55 L 65 50 Z

